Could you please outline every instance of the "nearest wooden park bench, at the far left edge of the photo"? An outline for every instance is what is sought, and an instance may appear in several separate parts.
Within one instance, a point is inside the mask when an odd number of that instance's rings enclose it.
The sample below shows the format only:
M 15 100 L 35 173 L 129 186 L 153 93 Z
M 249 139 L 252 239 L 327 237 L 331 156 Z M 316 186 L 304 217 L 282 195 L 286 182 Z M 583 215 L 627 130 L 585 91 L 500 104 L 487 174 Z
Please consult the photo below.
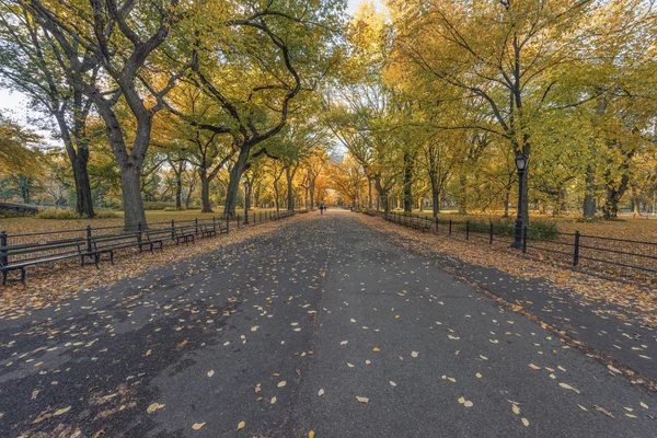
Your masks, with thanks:
M 9 273 L 20 270 L 21 281 L 25 285 L 25 268 L 45 263 L 54 263 L 68 258 L 80 257 L 80 265 L 94 264 L 99 266 L 100 254 L 89 247 L 89 242 L 82 238 L 56 240 L 45 243 L 24 243 L 0 247 L 0 272 L 2 285 L 9 279 Z

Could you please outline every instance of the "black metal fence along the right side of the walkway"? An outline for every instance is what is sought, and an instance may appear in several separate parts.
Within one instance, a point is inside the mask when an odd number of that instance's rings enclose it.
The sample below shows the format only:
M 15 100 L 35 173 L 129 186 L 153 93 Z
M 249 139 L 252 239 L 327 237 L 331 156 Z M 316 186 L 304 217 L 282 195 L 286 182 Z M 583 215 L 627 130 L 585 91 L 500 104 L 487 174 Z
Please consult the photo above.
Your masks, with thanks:
M 382 211 L 366 212 L 387 217 L 387 214 Z M 404 215 L 389 212 L 388 217 L 391 216 Z M 423 218 L 419 215 L 411 216 Z M 393 221 L 403 224 L 403 221 Z M 514 241 L 514 229 L 510 226 L 470 220 L 457 221 L 439 217 L 434 223 L 433 231 L 439 235 L 488 244 L 503 251 L 518 252 L 510 247 Z M 528 227 L 525 227 L 522 231 L 520 251 L 534 258 L 576 266 L 610 276 L 639 277 L 648 280 L 657 278 L 657 242 L 603 238 L 583 234 L 579 231 L 564 233 Z

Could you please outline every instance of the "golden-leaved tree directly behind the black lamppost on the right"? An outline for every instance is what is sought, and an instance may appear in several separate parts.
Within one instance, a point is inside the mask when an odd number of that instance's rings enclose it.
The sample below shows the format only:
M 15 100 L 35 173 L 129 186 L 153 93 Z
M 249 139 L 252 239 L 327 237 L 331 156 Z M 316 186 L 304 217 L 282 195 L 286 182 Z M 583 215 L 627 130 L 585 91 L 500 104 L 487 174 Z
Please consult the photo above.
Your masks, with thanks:
M 531 153 L 532 120 L 557 85 L 553 74 L 577 60 L 578 25 L 591 0 L 393 1 L 394 62 L 429 88 L 454 87 L 482 101 L 496 127 L 463 125 L 504 137 Z M 529 173 L 525 173 L 525 177 Z M 522 196 L 529 223 L 528 184 Z

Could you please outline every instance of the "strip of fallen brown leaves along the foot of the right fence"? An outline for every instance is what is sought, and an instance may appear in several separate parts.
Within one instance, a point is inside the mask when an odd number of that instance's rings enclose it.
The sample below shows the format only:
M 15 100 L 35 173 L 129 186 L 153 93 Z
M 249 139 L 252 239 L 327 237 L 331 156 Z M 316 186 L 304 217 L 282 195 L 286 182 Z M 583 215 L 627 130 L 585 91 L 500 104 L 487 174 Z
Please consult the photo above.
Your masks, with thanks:
M 427 234 L 377 217 L 359 215 L 359 218 L 365 224 L 384 232 L 396 243 L 419 254 L 443 253 L 464 263 L 494 267 L 520 278 L 543 278 L 557 288 L 570 290 L 589 301 L 614 304 L 644 324 L 657 326 L 657 292 L 648 284 L 600 278 L 504 251 L 492 251 L 487 245 L 482 247 L 456 239 Z

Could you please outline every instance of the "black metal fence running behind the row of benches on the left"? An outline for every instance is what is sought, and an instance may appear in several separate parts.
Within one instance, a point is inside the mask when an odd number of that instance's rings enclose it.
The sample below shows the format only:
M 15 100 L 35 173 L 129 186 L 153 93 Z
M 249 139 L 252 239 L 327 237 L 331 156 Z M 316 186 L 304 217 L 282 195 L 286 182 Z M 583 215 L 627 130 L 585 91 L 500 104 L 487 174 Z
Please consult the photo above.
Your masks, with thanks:
M 21 262 L 38 260 L 38 258 L 47 258 L 48 256 L 57 256 L 65 255 L 66 251 L 74 252 L 72 246 L 67 246 L 65 250 L 59 247 L 58 245 L 53 245 L 51 250 L 46 249 L 38 251 L 38 253 L 32 254 L 30 252 L 14 254 L 11 256 L 11 261 L 8 261 L 7 252 L 2 251 L 3 247 L 8 246 L 16 246 L 16 245 L 45 245 L 45 244 L 54 244 L 57 242 L 76 242 L 81 241 L 87 247 L 91 249 L 92 241 L 99 238 L 108 238 L 108 237 L 119 237 L 126 233 L 132 234 L 141 234 L 141 233 L 155 233 L 159 232 L 160 235 L 170 237 L 166 239 L 169 242 L 173 242 L 175 240 L 175 235 L 181 232 L 193 233 L 195 237 L 199 237 L 204 234 L 204 230 L 212 230 L 216 231 L 217 234 L 221 229 L 223 232 L 230 232 L 233 229 L 239 229 L 244 227 L 245 224 L 261 224 L 264 222 L 268 222 L 270 220 L 283 219 L 285 217 L 291 216 L 287 211 L 257 211 L 253 214 L 249 214 L 249 220 L 242 216 L 237 215 L 235 218 L 206 218 L 206 219 L 187 219 L 187 220 L 175 220 L 171 219 L 170 221 L 164 222 L 152 222 L 149 223 L 148 228 L 143 227 L 141 223 L 134 227 L 124 227 L 124 226 L 115 226 L 115 227 L 92 227 L 88 226 L 85 228 L 79 229 L 70 229 L 70 230 L 56 230 L 56 231 L 39 231 L 39 232 L 28 232 L 28 233 L 8 233 L 7 231 L 0 231 L 0 265 L 7 266 L 9 262 L 11 264 L 16 264 Z M 66 245 L 64 245 L 66 246 Z M 130 251 L 131 249 L 125 249 L 125 251 Z

